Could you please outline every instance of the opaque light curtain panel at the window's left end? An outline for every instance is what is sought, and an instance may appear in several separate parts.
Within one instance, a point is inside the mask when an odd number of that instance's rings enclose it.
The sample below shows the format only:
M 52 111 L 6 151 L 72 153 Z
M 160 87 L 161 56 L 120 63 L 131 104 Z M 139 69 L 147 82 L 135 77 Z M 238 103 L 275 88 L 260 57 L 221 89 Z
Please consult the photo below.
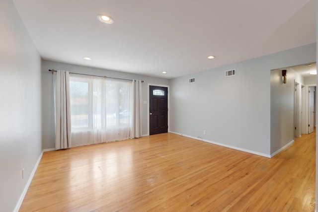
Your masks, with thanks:
M 58 70 L 55 85 L 55 149 L 71 147 L 70 74 Z

